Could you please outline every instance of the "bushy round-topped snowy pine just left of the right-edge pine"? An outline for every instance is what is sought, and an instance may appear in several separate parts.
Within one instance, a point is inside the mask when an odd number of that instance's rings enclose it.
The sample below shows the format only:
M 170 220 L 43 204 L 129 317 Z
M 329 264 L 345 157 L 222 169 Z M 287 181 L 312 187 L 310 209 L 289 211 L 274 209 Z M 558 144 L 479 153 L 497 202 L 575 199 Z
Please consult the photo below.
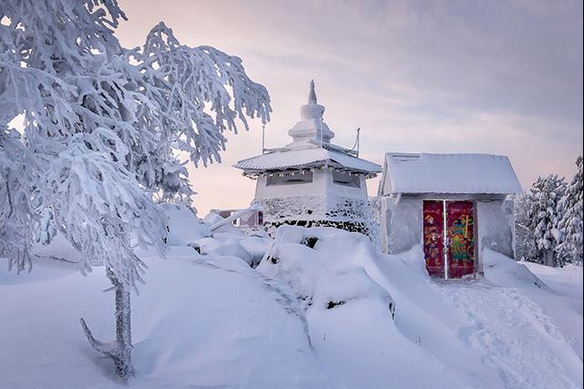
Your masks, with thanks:
M 528 202 L 527 225 L 533 234 L 535 252 L 529 261 L 548 266 L 563 266 L 565 259 L 558 257 L 557 247 L 562 242 L 558 223 L 561 220 L 559 201 L 566 192 L 566 180 L 556 174 L 538 177 L 526 197 Z

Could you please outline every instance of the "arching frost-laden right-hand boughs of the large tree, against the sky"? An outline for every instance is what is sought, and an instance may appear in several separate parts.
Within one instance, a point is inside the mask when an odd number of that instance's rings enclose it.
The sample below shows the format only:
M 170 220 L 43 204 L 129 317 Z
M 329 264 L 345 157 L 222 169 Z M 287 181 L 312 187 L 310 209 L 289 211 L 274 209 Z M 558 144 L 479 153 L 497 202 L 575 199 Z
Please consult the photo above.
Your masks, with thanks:
M 190 153 L 190 160 L 206 166 L 220 160 L 225 129 L 237 132 L 236 119 L 270 119 L 270 97 L 265 87 L 246 75 L 241 58 L 210 46 L 179 44 L 164 23 L 152 28 L 141 52 L 142 71 L 149 80 L 144 93 L 160 107 L 163 141 Z M 138 113 L 139 115 L 140 113 Z

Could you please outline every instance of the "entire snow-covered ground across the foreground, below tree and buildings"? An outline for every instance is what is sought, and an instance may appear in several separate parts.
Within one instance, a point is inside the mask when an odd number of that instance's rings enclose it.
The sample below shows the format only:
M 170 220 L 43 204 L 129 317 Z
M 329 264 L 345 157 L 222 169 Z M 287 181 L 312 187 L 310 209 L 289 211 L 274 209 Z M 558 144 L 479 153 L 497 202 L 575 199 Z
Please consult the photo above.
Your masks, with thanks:
M 582 387 L 580 267 L 490 251 L 484 278 L 438 282 L 420 248 L 386 256 L 356 233 L 284 229 L 254 270 L 241 252 L 264 238 L 203 232 L 176 233 L 166 260 L 143 253 L 130 387 Z M 104 271 L 83 277 L 58 259 L 71 252 L 48 251 L 30 274 L 0 261 L 0 387 L 126 385 L 79 325 L 113 337 Z

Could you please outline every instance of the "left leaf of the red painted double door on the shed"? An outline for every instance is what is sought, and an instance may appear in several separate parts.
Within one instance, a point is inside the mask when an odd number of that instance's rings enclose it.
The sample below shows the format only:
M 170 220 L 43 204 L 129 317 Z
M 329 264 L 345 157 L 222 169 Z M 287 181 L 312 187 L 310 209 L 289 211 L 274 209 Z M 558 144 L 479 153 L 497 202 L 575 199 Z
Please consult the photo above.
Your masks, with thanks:
M 444 201 L 424 201 L 424 256 L 430 276 L 444 278 Z

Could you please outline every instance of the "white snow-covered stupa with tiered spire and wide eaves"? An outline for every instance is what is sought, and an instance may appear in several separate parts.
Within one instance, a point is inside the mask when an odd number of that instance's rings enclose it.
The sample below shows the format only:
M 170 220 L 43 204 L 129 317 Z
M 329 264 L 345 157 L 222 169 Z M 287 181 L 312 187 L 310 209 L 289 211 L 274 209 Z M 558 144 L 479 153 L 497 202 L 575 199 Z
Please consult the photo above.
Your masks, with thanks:
M 311 82 L 301 121 L 288 134 L 283 148 L 243 159 L 235 167 L 257 179 L 255 202 L 263 208 L 267 225 L 332 226 L 369 231 L 370 208 L 365 179 L 381 166 L 358 158 L 358 151 L 331 143 L 333 131 L 323 121 Z

